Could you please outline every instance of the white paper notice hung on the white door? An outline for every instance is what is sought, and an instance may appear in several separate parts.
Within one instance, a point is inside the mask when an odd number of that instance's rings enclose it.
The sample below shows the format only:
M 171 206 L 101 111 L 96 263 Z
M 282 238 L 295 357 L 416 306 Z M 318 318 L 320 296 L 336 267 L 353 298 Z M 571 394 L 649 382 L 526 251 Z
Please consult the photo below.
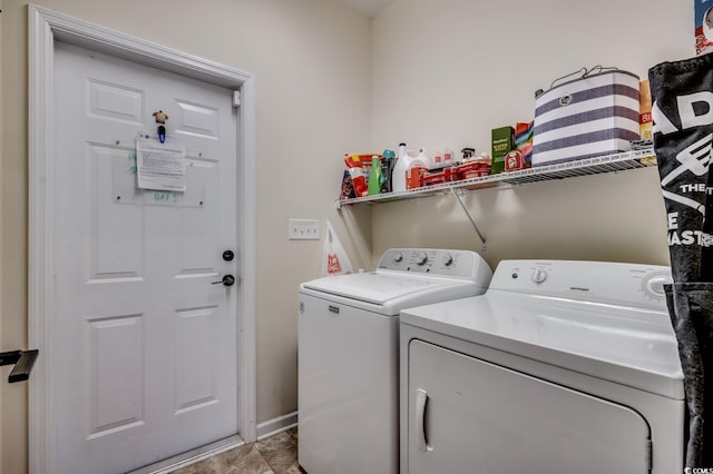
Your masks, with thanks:
M 136 138 L 138 187 L 164 191 L 186 190 L 186 145 L 166 137 L 165 142 L 147 135 Z

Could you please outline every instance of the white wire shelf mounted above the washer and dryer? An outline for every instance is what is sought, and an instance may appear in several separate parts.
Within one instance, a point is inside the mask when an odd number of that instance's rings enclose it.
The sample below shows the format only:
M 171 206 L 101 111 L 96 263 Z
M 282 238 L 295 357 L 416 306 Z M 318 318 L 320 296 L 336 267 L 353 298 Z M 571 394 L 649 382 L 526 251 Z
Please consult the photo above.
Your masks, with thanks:
M 576 176 L 590 176 L 605 172 L 626 171 L 629 169 L 655 166 L 655 157 L 656 156 L 654 154 L 654 149 L 652 147 L 647 147 L 639 150 L 605 155 L 576 161 L 561 162 L 557 165 L 521 169 L 518 171 L 506 171 L 498 175 L 484 176 L 480 178 L 471 178 L 460 181 L 424 186 L 406 191 L 384 192 L 381 195 L 364 196 L 345 200 L 336 199 L 335 204 L 338 207 L 361 203 L 381 204 L 395 200 L 416 199 L 419 197 L 432 196 L 434 194 L 451 192 L 451 189 L 485 189 L 501 185 L 524 185 L 528 182 L 572 178 Z

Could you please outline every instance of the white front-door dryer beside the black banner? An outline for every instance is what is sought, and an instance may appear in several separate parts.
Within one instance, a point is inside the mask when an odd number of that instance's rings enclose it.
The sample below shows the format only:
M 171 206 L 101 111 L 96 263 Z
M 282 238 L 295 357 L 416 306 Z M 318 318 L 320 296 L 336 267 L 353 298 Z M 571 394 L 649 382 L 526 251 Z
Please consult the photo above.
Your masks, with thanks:
M 401 313 L 401 473 L 683 472 L 667 267 L 501 261 Z

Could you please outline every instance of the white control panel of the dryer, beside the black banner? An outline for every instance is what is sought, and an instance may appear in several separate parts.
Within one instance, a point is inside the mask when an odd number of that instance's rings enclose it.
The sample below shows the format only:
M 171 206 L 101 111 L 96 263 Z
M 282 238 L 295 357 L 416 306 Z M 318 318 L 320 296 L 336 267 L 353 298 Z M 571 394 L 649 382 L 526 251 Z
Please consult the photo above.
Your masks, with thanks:
M 579 260 L 502 260 L 490 289 L 666 309 L 671 269 Z

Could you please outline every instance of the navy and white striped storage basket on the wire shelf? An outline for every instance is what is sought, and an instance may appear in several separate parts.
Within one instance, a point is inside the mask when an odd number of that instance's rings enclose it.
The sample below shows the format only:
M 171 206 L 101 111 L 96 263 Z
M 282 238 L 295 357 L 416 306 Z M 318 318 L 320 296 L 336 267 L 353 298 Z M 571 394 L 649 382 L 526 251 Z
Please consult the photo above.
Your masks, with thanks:
M 631 72 L 585 72 L 535 100 L 534 167 L 627 151 L 638 138 L 638 76 Z

